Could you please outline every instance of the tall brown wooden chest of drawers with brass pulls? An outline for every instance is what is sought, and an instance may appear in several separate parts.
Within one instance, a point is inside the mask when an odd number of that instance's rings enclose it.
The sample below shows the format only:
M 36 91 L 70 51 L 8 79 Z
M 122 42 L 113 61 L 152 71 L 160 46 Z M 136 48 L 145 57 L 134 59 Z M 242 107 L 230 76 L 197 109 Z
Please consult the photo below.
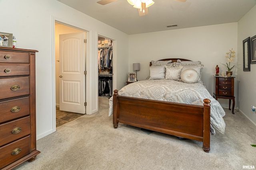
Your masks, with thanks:
M 0 169 L 33 161 L 36 150 L 36 50 L 0 47 Z

